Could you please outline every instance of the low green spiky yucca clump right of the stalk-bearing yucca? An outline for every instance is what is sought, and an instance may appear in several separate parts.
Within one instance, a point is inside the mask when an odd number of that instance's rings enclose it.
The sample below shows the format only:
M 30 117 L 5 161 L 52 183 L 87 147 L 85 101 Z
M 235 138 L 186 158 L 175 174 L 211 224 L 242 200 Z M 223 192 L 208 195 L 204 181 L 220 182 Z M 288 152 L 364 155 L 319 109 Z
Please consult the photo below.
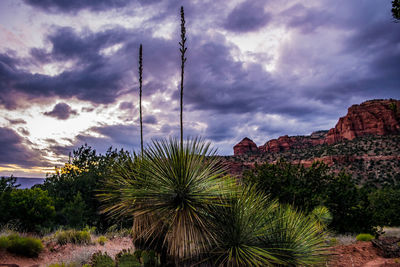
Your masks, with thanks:
M 245 186 L 214 207 L 211 266 L 314 266 L 324 263 L 325 235 L 312 218 Z

